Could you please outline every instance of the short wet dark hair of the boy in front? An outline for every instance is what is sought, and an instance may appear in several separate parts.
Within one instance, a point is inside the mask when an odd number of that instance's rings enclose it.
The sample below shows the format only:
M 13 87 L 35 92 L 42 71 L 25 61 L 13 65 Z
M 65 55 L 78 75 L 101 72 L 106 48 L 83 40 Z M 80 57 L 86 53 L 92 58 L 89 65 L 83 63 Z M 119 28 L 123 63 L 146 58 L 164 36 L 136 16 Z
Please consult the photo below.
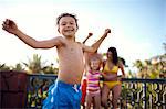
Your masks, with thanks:
M 76 14 L 72 14 L 72 13 L 62 13 L 62 14 L 60 14 L 60 15 L 56 18 L 56 24 L 58 24 L 58 25 L 59 25 L 59 23 L 60 23 L 61 18 L 63 18 L 63 17 L 71 17 L 71 18 L 73 18 L 73 19 L 75 20 L 75 22 L 76 22 L 76 26 L 79 28 Z

